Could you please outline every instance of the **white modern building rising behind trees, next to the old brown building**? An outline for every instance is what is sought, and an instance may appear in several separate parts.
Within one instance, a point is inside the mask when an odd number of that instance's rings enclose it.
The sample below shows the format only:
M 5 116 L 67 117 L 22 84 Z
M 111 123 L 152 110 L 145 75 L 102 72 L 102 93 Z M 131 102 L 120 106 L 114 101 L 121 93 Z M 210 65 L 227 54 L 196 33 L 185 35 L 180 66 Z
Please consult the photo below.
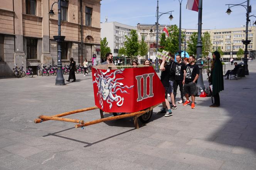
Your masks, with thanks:
M 101 23 L 101 38 L 107 38 L 108 47 L 113 56 L 118 55 L 118 50 L 125 45 L 125 35 L 130 36 L 131 30 L 137 30 L 137 27 L 125 25 L 118 22 Z

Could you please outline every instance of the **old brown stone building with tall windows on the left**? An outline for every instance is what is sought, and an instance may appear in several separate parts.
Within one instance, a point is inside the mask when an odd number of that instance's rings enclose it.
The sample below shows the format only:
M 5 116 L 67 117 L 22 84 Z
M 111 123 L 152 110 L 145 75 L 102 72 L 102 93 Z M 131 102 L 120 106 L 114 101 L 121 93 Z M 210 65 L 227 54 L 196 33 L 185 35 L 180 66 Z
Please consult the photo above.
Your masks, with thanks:
M 0 77 L 13 76 L 13 65 L 35 70 L 57 64 L 58 10 L 54 0 L 0 0 Z M 100 62 L 100 0 L 61 0 L 62 64 Z M 49 11 L 54 15 L 49 15 Z

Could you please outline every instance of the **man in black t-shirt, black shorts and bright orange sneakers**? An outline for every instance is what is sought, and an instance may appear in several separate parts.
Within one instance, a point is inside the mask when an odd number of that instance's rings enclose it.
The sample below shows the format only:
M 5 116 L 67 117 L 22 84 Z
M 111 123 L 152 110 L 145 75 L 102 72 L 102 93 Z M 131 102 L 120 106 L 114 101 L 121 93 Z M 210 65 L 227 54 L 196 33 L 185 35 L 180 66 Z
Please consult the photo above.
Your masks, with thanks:
M 200 73 L 199 67 L 194 63 L 194 61 L 195 56 L 190 55 L 189 64 L 186 65 L 186 73 L 182 82 L 184 84 L 185 97 L 187 99 L 183 105 L 185 106 L 190 103 L 189 95 L 191 95 L 191 108 L 195 108 L 196 83 Z

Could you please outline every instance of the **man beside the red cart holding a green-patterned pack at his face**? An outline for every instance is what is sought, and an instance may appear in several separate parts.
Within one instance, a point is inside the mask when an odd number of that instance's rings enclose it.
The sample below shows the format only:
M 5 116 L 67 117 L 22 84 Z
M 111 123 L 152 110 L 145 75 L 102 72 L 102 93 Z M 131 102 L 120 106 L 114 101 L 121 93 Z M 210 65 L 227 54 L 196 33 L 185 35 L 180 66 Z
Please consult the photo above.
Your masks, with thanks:
M 158 112 L 158 114 L 161 113 L 166 113 L 165 117 L 171 116 L 172 115 L 172 111 L 170 108 L 170 103 L 167 100 L 167 93 L 168 93 L 168 88 L 169 88 L 169 78 L 170 78 L 170 65 L 167 65 L 167 63 L 165 62 L 165 57 L 162 57 L 162 60 L 159 59 L 159 63 L 160 65 L 160 70 L 161 72 L 161 77 L 160 80 L 163 84 L 163 87 L 165 88 L 165 102 L 162 103 L 163 108 Z M 165 107 L 167 107 L 168 111 L 166 112 Z

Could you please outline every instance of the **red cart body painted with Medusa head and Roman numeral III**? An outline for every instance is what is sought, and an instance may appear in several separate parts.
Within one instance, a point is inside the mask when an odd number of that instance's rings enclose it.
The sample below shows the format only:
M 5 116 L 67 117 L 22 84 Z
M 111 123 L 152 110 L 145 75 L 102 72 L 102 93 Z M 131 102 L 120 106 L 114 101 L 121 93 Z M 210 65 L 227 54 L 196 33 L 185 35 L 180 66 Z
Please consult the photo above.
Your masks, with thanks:
M 153 67 L 92 68 L 94 100 L 104 112 L 132 113 L 165 101 L 165 89 Z

